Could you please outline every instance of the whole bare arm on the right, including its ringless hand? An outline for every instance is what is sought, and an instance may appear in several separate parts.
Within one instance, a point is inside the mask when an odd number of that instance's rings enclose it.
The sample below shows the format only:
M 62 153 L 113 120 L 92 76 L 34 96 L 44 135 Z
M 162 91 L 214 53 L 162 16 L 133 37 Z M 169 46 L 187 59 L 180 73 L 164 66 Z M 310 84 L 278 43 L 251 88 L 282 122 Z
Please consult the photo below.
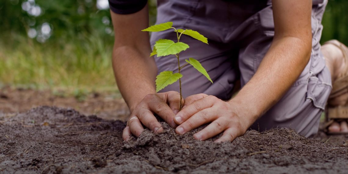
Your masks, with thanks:
M 217 142 L 232 141 L 271 108 L 299 77 L 311 53 L 311 0 L 273 0 L 275 37 L 251 80 L 229 102 L 204 94 L 189 96 L 175 117 L 183 134 L 212 122 L 196 133 L 206 140 L 224 131 Z M 181 118 L 177 119 L 177 118 Z

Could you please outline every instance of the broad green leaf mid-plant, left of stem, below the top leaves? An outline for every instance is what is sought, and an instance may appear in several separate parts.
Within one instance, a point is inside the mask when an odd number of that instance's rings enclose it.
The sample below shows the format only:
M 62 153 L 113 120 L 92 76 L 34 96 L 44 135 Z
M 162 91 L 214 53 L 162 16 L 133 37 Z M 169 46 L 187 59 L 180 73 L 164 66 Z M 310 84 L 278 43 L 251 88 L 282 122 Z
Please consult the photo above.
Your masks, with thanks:
M 167 56 L 171 54 L 178 54 L 187 48 L 189 45 L 183 42 L 174 42 L 168 39 L 160 39 L 155 44 L 157 56 Z

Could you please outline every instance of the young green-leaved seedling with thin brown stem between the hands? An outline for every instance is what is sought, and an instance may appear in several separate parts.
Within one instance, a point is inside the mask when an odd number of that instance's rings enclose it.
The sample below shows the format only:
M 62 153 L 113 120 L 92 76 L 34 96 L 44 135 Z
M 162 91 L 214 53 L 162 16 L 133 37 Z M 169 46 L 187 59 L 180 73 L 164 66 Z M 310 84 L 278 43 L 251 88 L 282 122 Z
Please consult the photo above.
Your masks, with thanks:
M 148 27 L 147 29 L 141 30 L 141 31 L 149 31 L 149 32 L 158 32 L 158 31 L 164 31 L 168 29 L 174 29 L 174 32 L 176 33 L 177 42 L 174 42 L 172 40 L 168 39 L 159 39 L 156 41 L 155 46 L 153 47 L 153 51 L 150 54 L 151 56 L 154 56 L 157 54 L 157 57 L 160 56 L 167 56 L 167 55 L 175 55 L 177 58 L 177 66 L 178 66 L 178 72 L 173 73 L 173 71 L 163 71 L 158 74 L 156 77 L 156 92 L 159 90 L 165 88 L 166 86 L 173 84 L 177 80 L 179 80 L 179 87 L 180 87 L 180 109 L 182 108 L 182 92 L 181 92 L 181 78 L 182 74 L 180 74 L 180 70 L 190 64 L 193 66 L 193 68 L 197 69 L 200 73 L 202 73 L 209 81 L 212 81 L 210 79 L 209 74 L 207 71 L 203 68 L 203 66 L 197 61 L 196 59 L 190 57 L 189 60 L 185 60 L 187 63 L 180 66 L 179 61 L 179 53 L 186 50 L 187 48 L 190 48 L 189 45 L 185 44 L 184 42 L 180 42 L 180 37 L 182 34 L 186 34 L 191 36 L 192 38 L 195 38 L 199 41 L 202 41 L 206 44 L 208 44 L 208 39 L 204 37 L 203 35 L 199 34 L 197 31 L 193 30 L 183 30 L 183 29 L 175 29 L 173 27 L 173 22 L 166 22 L 158 25 L 153 25 Z M 179 34 L 180 33 L 180 34 Z

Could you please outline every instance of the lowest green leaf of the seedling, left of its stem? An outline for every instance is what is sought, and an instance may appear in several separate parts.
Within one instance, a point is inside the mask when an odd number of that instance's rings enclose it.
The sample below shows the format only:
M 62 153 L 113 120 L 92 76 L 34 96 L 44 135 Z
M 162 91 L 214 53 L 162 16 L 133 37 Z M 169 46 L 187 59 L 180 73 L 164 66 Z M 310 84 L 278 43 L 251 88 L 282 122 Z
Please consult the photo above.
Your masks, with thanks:
M 166 86 L 173 84 L 180 78 L 182 78 L 182 74 L 173 74 L 173 71 L 163 71 L 159 73 L 156 77 L 156 93 L 159 92 L 159 90 L 165 88 Z

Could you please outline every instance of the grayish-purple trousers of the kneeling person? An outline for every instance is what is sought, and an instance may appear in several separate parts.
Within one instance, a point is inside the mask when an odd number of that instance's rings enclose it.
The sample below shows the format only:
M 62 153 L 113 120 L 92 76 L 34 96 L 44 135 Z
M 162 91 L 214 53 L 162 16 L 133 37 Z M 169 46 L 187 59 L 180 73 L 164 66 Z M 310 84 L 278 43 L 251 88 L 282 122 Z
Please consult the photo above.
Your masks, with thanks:
M 326 3 L 327 0 L 313 0 L 312 53 L 306 68 L 252 129 L 289 127 L 306 137 L 317 133 L 319 118 L 332 89 L 319 44 Z M 158 0 L 157 10 L 157 24 L 172 21 L 177 29 L 196 30 L 208 38 L 209 45 L 189 36 L 181 37 L 190 48 L 180 53 L 180 64 L 186 63 L 189 57 L 196 58 L 214 81 L 211 84 L 192 66 L 185 66 L 181 70 L 184 97 L 205 93 L 229 100 L 237 80 L 240 79 L 243 87 L 253 77 L 274 37 L 270 0 Z M 172 30 L 152 33 L 152 46 L 158 39 L 175 41 L 176 34 Z M 178 69 L 173 55 L 155 57 L 155 60 L 159 72 Z M 178 82 L 161 92 L 170 90 L 179 91 Z

